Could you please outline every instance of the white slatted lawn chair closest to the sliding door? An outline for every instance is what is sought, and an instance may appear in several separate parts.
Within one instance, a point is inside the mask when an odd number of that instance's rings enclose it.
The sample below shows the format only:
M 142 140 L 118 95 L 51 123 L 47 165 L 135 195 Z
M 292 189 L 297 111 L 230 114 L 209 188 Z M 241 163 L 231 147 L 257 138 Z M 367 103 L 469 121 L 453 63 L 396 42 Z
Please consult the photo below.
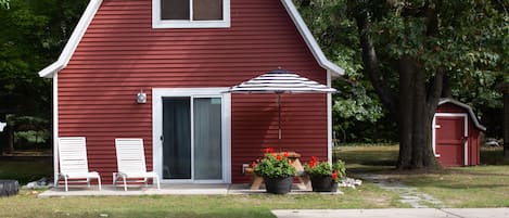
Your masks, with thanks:
M 137 179 L 137 182 L 142 181 L 148 187 L 149 178 L 152 178 L 157 190 L 161 189 L 157 174 L 147 171 L 143 139 L 115 139 L 115 148 L 118 172 L 113 172 L 114 187 L 119 178 L 124 181 L 124 191 L 127 191 L 128 179 Z

